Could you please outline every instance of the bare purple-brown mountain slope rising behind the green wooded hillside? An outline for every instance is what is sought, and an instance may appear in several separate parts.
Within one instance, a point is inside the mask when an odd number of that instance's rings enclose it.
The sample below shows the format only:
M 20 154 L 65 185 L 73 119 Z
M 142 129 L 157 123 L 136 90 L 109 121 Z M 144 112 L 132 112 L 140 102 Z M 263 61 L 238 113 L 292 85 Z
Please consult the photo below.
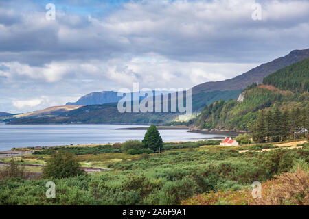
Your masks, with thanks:
M 275 71 L 289 66 L 300 60 L 304 60 L 309 57 L 309 49 L 294 50 L 284 57 L 279 57 L 272 62 L 261 64 L 260 66 L 249 70 L 247 73 L 238 75 L 233 79 L 216 82 L 201 83 L 198 86 L 192 88 L 192 94 L 201 92 L 209 92 L 213 90 L 239 90 L 244 89 L 252 83 L 260 84 L 267 75 L 271 75 Z

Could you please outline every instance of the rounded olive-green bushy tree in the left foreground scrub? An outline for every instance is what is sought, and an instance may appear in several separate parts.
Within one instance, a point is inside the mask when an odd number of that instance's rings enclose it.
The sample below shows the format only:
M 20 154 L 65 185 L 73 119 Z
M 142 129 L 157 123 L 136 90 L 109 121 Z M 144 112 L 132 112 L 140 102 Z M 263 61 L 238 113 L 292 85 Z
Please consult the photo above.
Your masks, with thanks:
M 69 151 L 59 150 L 53 153 L 43 168 L 43 177 L 45 178 L 60 179 L 84 174 L 84 170 L 80 169 L 76 155 Z

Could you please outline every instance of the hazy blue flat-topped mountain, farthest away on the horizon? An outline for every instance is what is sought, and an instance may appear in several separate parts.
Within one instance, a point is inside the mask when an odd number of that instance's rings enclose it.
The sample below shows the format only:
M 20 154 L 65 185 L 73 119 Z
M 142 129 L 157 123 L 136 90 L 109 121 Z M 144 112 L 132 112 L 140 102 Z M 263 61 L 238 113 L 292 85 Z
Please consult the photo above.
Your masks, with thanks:
M 162 91 L 163 94 L 168 94 L 168 91 Z M 133 99 L 133 93 L 131 94 L 131 99 Z M 136 94 L 136 93 L 135 93 Z M 152 91 L 152 96 L 155 95 L 155 91 Z M 98 105 L 104 103 L 117 103 L 123 97 L 118 96 L 118 92 L 115 91 L 102 91 L 102 92 L 93 92 L 85 96 L 80 97 L 76 102 L 69 102 L 66 105 Z M 139 96 L 139 99 L 144 99 L 143 96 Z M 136 99 L 137 100 L 137 99 Z

